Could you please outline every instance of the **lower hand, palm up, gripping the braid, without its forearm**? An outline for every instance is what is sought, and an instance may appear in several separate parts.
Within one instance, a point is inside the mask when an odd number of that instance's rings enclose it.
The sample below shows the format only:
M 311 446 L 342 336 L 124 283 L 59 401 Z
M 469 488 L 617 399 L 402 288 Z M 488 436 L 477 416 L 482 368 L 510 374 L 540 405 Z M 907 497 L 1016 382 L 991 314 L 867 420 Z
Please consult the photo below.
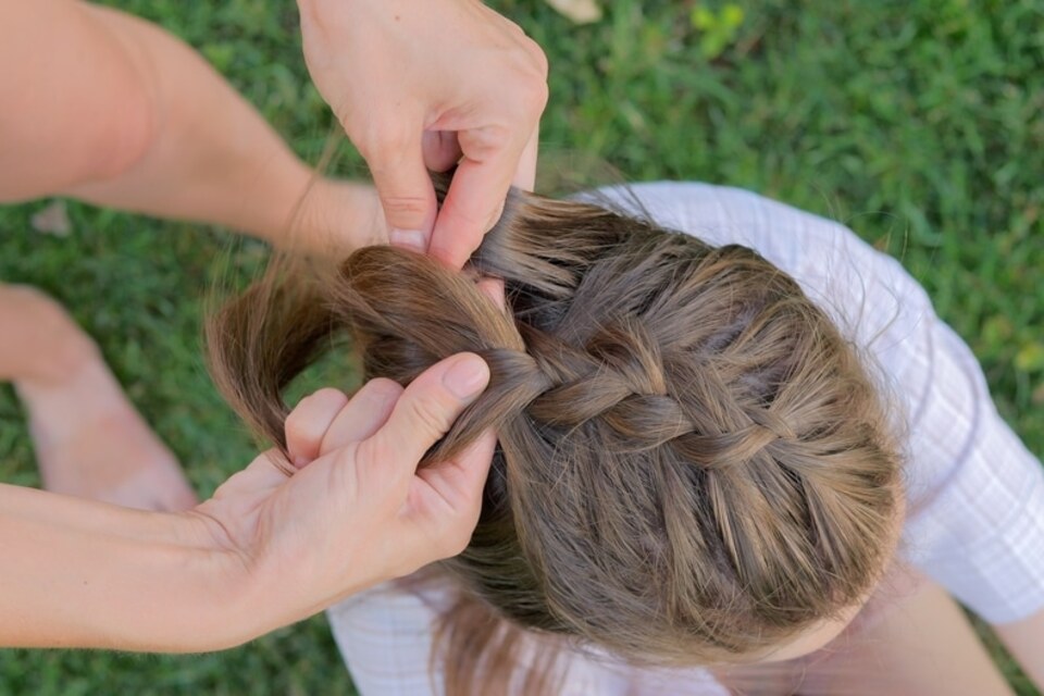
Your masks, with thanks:
M 485 388 L 476 356 L 448 358 L 405 390 L 374 380 L 350 400 L 303 399 L 286 421 L 297 468 L 271 450 L 195 514 L 246 571 L 247 602 L 264 611 L 249 637 L 303 619 L 378 582 L 460 552 L 478 519 L 493 434 L 456 460 L 417 463 Z

